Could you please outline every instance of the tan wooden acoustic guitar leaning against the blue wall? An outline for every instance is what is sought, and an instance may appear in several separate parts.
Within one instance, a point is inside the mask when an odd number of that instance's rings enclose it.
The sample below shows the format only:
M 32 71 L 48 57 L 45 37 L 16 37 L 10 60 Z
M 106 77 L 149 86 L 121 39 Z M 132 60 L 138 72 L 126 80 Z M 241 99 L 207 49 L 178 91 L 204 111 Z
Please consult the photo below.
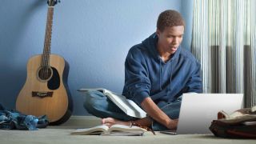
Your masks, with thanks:
M 50 54 L 55 0 L 48 0 L 46 35 L 43 53 L 27 62 L 27 77 L 16 100 L 16 110 L 22 114 L 45 115 L 50 125 L 66 122 L 73 112 L 67 85 L 69 65 L 64 58 Z

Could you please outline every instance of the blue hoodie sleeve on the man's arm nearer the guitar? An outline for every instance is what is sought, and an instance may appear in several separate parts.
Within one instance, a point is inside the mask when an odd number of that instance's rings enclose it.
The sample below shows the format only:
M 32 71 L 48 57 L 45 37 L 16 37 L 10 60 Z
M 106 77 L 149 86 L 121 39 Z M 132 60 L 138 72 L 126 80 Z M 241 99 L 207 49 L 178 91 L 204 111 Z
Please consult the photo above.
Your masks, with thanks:
M 142 101 L 150 94 L 150 79 L 141 51 L 129 51 L 125 62 L 125 74 L 126 94 L 124 95 L 141 106 Z

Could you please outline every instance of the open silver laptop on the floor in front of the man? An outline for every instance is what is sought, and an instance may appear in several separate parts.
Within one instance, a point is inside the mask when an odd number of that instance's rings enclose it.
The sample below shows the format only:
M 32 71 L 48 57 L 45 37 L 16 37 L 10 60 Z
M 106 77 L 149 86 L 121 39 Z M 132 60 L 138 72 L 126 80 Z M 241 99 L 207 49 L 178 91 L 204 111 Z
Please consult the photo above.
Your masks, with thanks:
M 218 119 L 219 111 L 231 114 L 242 104 L 243 94 L 183 94 L 177 131 L 171 133 L 209 134 L 210 124 Z

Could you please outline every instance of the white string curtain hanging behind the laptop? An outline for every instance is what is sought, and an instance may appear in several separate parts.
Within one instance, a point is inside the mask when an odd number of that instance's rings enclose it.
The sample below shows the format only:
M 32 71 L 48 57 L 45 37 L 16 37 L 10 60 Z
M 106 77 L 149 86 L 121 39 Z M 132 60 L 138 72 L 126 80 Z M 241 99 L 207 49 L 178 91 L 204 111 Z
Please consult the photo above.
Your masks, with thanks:
M 256 105 L 256 0 L 194 0 L 192 53 L 204 93 L 242 93 Z

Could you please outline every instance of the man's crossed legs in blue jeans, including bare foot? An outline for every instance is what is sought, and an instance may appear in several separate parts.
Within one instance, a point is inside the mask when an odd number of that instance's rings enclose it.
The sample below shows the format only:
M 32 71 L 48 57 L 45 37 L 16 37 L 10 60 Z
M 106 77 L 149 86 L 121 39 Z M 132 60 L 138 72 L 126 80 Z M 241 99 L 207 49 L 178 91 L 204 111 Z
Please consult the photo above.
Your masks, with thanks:
M 109 98 L 106 98 L 102 92 L 99 91 L 86 91 L 84 93 L 86 98 L 84 107 L 86 110 L 98 118 L 102 118 L 102 124 L 106 126 L 112 126 L 114 124 L 122 124 L 130 126 L 130 122 L 134 121 L 142 126 L 152 127 L 153 130 L 167 130 L 166 126 L 154 121 L 150 117 L 146 118 L 133 118 L 125 114 L 121 109 L 118 108 Z M 165 112 L 170 118 L 178 120 L 179 108 L 181 100 L 166 103 L 161 102 L 159 107 Z

